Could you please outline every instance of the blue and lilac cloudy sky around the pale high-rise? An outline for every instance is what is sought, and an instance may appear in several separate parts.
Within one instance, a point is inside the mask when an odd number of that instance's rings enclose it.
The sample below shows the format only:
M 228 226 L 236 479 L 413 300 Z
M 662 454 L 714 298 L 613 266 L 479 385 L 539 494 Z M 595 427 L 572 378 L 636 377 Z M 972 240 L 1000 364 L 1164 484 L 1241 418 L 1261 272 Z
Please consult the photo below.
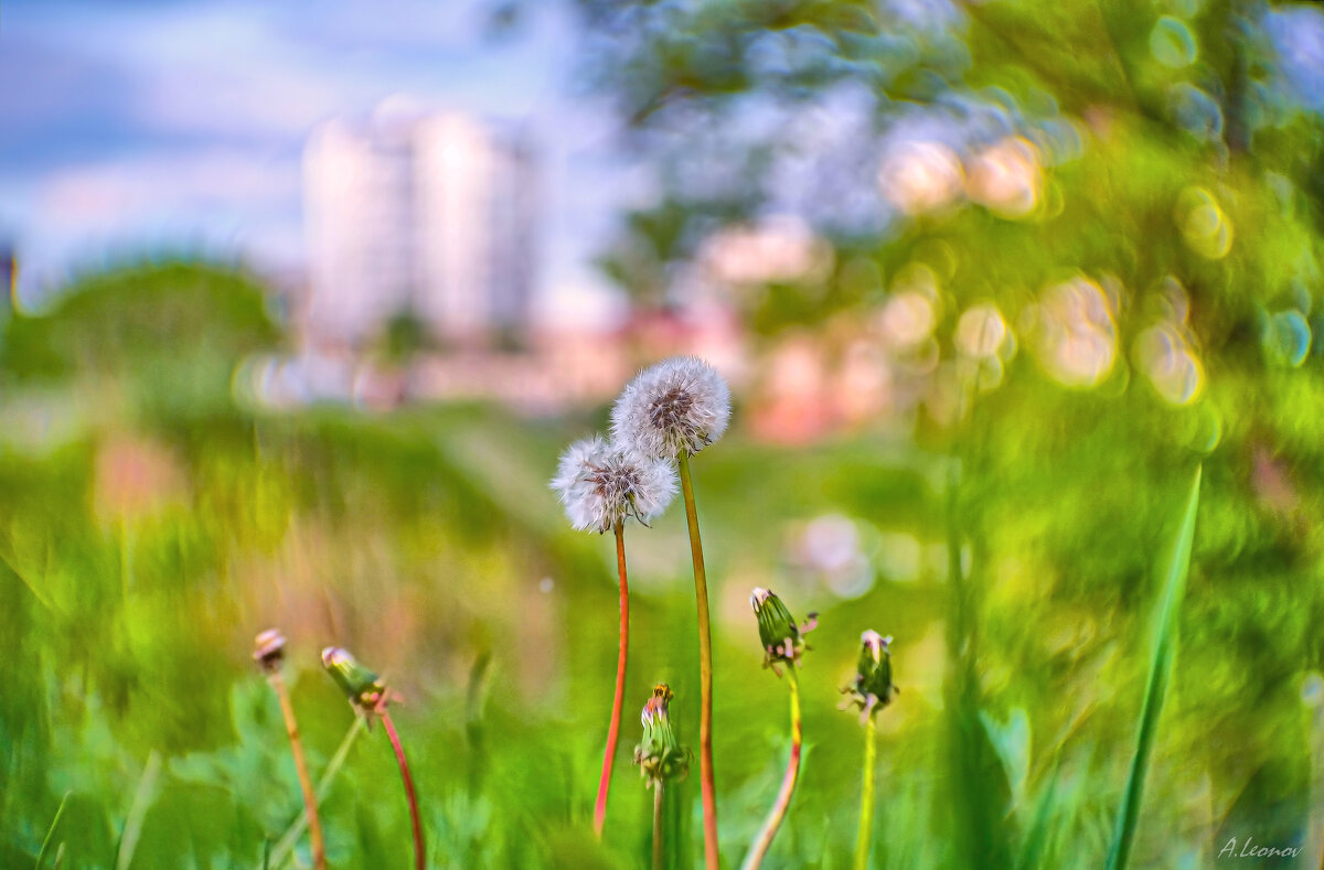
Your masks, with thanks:
M 606 111 L 575 89 L 564 4 L 526 4 L 493 38 L 475 0 L 5 0 L 0 242 L 20 304 L 71 271 L 163 253 L 299 275 L 308 131 L 406 95 L 527 124 L 543 167 L 536 312 L 613 297 L 592 267 L 645 196 Z

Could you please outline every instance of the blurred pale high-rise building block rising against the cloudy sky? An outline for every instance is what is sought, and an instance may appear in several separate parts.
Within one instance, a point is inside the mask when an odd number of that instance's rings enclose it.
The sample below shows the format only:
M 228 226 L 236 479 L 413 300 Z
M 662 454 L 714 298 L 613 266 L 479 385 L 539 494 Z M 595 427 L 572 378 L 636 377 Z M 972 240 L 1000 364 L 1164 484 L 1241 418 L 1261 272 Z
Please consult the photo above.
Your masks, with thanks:
M 383 106 L 305 152 L 315 338 L 359 344 L 401 313 L 474 342 L 519 332 L 534 279 L 535 168 L 514 128 Z

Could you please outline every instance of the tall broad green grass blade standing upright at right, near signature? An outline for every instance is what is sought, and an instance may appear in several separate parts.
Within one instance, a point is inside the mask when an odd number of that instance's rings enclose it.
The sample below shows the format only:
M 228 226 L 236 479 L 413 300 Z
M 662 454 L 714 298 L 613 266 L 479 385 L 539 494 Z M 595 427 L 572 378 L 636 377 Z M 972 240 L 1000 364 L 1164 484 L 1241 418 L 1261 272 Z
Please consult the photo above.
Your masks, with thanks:
M 1158 731 L 1158 714 L 1162 711 L 1164 695 L 1168 694 L 1168 681 L 1172 677 L 1173 660 L 1177 656 L 1177 620 L 1181 600 L 1186 592 L 1186 574 L 1190 570 L 1190 543 L 1196 537 L 1196 513 L 1200 508 L 1200 467 L 1196 467 L 1186 509 L 1172 542 L 1168 570 L 1164 580 L 1162 599 L 1155 613 L 1153 649 L 1149 658 L 1149 678 L 1145 682 L 1144 705 L 1140 709 L 1140 732 L 1136 736 L 1136 754 L 1131 759 L 1131 773 L 1127 776 L 1127 791 L 1117 812 L 1117 826 L 1108 849 L 1108 870 L 1124 870 L 1131 859 L 1131 846 L 1136 836 L 1140 816 L 1140 801 L 1144 797 L 1145 772 L 1149 768 L 1149 754 L 1153 751 Z

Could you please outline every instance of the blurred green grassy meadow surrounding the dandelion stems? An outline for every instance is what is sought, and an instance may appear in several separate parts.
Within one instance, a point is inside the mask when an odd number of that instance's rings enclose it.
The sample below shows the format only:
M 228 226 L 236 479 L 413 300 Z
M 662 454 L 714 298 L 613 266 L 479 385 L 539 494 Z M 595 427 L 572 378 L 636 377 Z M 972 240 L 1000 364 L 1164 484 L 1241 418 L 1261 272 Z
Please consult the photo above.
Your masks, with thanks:
M 402 695 L 429 866 L 645 865 L 633 711 L 667 682 L 682 742 L 698 734 L 683 512 L 632 533 L 626 713 L 598 842 L 614 551 L 569 529 L 547 480 L 606 409 L 260 410 L 232 373 L 275 341 L 260 290 L 224 267 L 89 278 L 7 324 L 3 863 L 34 866 L 49 840 L 48 866 L 278 866 L 302 804 L 252 661 L 275 625 L 315 779 L 356 722 L 323 647 Z M 1313 366 L 1270 382 L 1319 389 Z M 870 628 L 895 637 L 900 688 L 876 718 L 871 866 L 1103 863 L 1156 632 L 1176 661 L 1147 729 L 1132 865 L 1214 866 L 1229 837 L 1304 848 L 1319 817 L 1316 423 L 1296 399 L 1254 424 L 1234 414 L 1263 382 L 1210 390 L 1226 409 L 1211 452 L 1143 395 L 1066 393 L 1033 372 L 928 444 L 876 427 L 771 447 L 741 431 L 737 397 L 732 431 L 694 461 L 723 861 L 744 855 L 788 750 L 756 586 L 818 612 L 802 776 L 767 866 L 851 861 L 863 729 L 838 705 Z M 1266 438 L 1283 452 L 1263 456 Z M 851 558 L 814 557 L 816 534 L 845 535 Z M 381 730 L 342 762 L 320 807 L 330 863 L 405 866 Z M 675 866 L 700 862 L 698 804 L 691 771 L 667 789 Z M 307 844 L 277 857 L 308 866 Z

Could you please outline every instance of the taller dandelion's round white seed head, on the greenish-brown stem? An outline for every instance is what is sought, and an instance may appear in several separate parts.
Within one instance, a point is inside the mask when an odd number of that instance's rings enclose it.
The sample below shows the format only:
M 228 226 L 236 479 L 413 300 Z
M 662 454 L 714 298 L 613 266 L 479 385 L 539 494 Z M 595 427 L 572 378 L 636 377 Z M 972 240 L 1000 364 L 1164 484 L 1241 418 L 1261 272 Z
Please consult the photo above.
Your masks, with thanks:
M 731 419 L 731 387 L 698 357 L 671 357 L 630 381 L 612 409 L 612 435 L 643 456 L 674 459 L 714 443 Z

